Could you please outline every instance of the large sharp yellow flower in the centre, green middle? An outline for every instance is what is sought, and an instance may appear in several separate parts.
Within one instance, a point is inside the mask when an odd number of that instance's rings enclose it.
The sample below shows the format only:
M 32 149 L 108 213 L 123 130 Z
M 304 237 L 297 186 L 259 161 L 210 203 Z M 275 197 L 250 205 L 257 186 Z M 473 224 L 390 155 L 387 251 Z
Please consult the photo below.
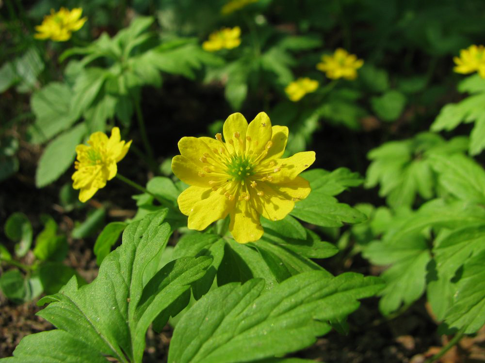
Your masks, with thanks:
M 223 126 L 224 139 L 182 137 L 181 155 L 172 159 L 172 171 L 191 185 L 178 197 L 188 227 L 202 230 L 230 215 L 229 231 L 237 242 L 258 240 L 263 234 L 259 217 L 283 219 L 296 201 L 310 193 L 299 177 L 315 161 L 315 152 L 299 152 L 281 159 L 288 139 L 286 126 L 271 126 L 264 112 L 248 125 L 240 113 Z

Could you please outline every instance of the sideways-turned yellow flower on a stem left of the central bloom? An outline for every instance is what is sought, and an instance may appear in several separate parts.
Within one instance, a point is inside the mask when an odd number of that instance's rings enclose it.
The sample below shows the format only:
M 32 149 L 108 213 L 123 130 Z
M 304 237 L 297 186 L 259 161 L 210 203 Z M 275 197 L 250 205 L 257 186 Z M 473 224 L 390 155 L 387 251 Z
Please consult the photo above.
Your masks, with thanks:
M 81 189 L 79 200 L 85 202 L 93 197 L 98 189 L 106 185 L 118 171 L 116 163 L 128 152 L 131 141 L 121 141 L 120 129 L 113 127 L 111 137 L 103 132 L 95 132 L 89 137 L 89 145 L 76 147 L 78 160 L 74 163 L 77 171 L 72 175 L 74 189 Z

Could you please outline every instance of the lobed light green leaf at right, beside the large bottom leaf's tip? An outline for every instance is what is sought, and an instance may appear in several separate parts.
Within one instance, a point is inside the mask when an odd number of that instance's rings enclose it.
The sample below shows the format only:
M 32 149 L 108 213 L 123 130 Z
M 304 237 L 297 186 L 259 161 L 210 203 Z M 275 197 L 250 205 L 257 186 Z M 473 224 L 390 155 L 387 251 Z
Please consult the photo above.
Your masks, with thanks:
M 384 315 L 396 311 L 402 303 L 409 305 L 420 298 L 426 288 L 426 265 L 431 259 L 427 243 L 419 235 L 408 235 L 392 244 L 372 242 L 364 257 L 373 264 L 392 264 L 381 277 L 386 287 L 381 291 L 379 309 Z

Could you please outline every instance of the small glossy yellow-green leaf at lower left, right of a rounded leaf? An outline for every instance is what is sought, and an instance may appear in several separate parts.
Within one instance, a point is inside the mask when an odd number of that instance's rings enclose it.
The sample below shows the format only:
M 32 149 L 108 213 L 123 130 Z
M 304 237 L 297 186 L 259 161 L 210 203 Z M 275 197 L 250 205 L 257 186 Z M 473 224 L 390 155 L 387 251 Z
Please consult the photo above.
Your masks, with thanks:
M 46 218 L 44 229 L 35 239 L 33 254 L 42 261 L 62 261 L 67 254 L 67 240 L 65 236 L 57 236 L 57 224 L 54 219 L 49 215 Z

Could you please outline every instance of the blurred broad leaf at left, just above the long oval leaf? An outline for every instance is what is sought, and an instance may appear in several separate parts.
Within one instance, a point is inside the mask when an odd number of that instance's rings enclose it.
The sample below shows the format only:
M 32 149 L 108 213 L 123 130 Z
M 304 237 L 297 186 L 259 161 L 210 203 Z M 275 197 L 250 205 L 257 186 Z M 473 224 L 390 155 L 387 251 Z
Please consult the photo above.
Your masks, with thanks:
M 33 93 L 31 107 L 35 123 L 30 128 L 33 143 L 50 140 L 72 126 L 78 116 L 70 112 L 71 98 L 71 89 L 59 82 L 51 82 Z

